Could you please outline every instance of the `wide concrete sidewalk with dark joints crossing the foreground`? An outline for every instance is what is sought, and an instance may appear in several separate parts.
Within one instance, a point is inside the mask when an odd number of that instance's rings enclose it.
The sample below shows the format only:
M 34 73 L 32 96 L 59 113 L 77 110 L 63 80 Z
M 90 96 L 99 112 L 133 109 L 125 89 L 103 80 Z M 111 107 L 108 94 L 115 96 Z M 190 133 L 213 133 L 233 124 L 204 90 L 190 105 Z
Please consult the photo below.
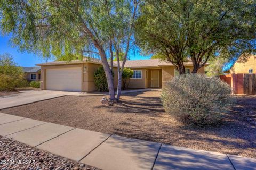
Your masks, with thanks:
M 0 113 L 0 135 L 101 169 L 256 169 L 256 159 L 130 139 Z

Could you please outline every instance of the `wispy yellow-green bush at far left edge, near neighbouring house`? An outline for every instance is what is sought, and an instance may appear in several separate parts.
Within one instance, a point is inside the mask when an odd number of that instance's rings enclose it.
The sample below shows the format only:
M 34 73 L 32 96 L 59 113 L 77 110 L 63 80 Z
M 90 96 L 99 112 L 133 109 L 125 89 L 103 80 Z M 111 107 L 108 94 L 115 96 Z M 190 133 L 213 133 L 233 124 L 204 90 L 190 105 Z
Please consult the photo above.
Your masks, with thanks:
M 13 57 L 8 53 L 0 55 L 0 91 L 11 91 L 15 87 L 27 85 L 23 71 L 13 61 Z

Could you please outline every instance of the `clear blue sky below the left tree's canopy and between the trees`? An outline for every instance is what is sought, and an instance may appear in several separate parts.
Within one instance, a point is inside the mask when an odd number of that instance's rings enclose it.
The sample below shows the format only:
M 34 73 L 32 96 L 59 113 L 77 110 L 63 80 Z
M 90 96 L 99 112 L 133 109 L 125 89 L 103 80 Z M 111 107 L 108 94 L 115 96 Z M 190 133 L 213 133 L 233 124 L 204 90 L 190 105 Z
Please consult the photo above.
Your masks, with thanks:
M 12 47 L 10 42 L 10 35 L 9 36 L 0 36 L 0 54 L 3 53 L 10 53 L 14 61 L 19 65 L 23 67 L 32 67 L 35 66 L 35 64 L 46 62 L 45 60 L 42 60 L 39 56 L 35 56 L 34 54 L 29 53 L 22 53 L 19 51 L 17 47 Z M 130 60 L 139 60 L 139 59 L 148 59 L 149 56 L 142 56 L 138 52 L 138 49 L 130 50 L 129 52 Z M 51 60 L 48 60 L 51 61 Z

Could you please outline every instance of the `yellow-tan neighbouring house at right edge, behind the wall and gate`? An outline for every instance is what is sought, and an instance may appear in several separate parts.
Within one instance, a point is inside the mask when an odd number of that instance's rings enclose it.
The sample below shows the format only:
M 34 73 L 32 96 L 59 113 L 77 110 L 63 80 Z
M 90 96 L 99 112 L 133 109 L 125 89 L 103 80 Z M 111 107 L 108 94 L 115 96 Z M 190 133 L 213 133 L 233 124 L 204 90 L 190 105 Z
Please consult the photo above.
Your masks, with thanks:
M 238 73 L 256 73 L 256 56 L 250 55 L 249 57 L 240 56 L 229 70 L 224 71 L 227 74 Z

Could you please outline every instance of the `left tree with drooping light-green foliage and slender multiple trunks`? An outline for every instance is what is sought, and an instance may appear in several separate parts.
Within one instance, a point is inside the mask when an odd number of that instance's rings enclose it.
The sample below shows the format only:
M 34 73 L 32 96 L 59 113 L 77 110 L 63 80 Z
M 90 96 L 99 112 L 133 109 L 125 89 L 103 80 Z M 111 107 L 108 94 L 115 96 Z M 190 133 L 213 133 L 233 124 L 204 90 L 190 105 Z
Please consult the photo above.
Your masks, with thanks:
M 138 3 L 137 0 L 3 0 L 1 30 L 11 33 L 12 44 L 20 50 L 44 58 L 71 61 L 82 60 L 85 55 L 99 57 L 113 101 L 120 96 L 119 79 L 133 41 Z M 121 51 L 125 53 L 122 62 L 118 61 Z M 113 52 L 118 61 L 117 97 L 112 74 Z

